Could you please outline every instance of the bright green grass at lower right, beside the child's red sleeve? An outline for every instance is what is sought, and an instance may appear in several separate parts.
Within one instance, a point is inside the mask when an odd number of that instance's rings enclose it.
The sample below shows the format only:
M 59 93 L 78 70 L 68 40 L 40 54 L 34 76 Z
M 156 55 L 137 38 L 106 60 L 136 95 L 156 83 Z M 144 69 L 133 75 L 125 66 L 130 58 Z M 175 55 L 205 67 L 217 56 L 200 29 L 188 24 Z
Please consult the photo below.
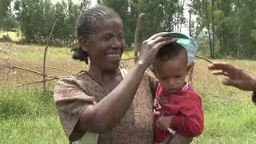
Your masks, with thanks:
M 198 91 L 200 94 L 200 90 Z M 254 143 L 256 106 L 243 102 L 218 102 L 200 94 L 205 114 L 205 130 L 193 143 Z

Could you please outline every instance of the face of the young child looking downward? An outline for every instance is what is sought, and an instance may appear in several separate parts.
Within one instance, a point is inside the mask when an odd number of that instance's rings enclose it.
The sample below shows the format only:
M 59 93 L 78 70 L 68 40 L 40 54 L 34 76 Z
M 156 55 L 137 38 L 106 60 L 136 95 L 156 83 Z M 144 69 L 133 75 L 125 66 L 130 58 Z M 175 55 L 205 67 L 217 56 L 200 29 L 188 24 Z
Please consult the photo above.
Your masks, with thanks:
M 178 56 L 165 62 L 154 62 L 154 74 L 164 90 L 176 92 L 185 85 L 189 66 L 184 59 Z

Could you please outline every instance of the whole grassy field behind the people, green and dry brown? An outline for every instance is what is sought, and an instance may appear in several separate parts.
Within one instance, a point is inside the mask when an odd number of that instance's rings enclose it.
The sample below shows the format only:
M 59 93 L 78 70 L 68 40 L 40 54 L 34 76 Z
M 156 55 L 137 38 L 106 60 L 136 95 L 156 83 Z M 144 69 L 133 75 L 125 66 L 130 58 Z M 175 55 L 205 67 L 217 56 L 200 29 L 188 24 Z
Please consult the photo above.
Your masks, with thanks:
M 10 47 L 10 62 L 31 68 L 42 66 L 44 46 L 15 45 Z M 130 58 L 133 52 L 125 52 Z M 0 58 L 5 54 L 0 51 Z M 233 63 L 250 74 L 256 74 L 256 62 L 247 60 L 218 60 Z M 126 61 L 123 66 L 132 66 Z M 3 62 L 0 62 L 0 65 Z M 72 73 L 88 69 L 83 62 L 71 59 L 70 49 L 50 47 L 47 66 Z M 202 97 L 205 130 L 193 143 L 255 143 L 256 106 L 250 102 L 250 92 L 222 86 L 222 77 L 210 74 L 207 62 L 196 59 L 193 86 Z M 34 70 L 42 71 L 41 68 Z M 47 69 L 47 74 L 66 76 L 65 72 Z M 24 70 L 0 69 L 0 143 L 68 143 L 54 108 L 54 82 L 48 83 L 46 94 L 42 86 L 14 86 L 42 79 Z

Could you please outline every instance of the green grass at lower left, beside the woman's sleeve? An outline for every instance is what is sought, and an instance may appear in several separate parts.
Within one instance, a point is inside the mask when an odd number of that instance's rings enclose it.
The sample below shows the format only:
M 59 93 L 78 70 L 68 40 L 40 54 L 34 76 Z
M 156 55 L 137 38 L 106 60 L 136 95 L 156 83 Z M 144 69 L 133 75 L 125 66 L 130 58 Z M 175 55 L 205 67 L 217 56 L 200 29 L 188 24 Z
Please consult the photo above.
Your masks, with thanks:
M 0 143 L 67 143 L 53 90 L 0 87 Z

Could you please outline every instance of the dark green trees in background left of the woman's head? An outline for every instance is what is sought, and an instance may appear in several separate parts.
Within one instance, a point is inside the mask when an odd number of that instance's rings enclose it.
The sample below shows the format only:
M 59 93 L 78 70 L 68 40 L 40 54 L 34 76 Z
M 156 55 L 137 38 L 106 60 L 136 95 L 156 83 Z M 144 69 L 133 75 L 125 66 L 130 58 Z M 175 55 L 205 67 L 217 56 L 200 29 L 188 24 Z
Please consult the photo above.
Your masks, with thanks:
M 88 4 L 84 2 L 82 5 Z M 50 44 L 73 46 L 76 39 L 75 26 L 80 6 L 72 0 L 16 0 L 14 13 L 20 22 L 22 41 L 46 44 L 54 20 L 57 19 Z

